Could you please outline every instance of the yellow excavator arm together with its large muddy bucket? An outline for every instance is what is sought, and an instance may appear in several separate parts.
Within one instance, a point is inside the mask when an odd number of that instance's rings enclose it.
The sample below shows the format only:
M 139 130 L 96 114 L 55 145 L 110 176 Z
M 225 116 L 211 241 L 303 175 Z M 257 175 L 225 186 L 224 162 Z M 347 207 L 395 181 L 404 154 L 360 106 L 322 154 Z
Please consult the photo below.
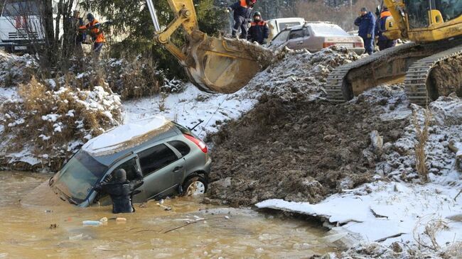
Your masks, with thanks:
M 237 92 L 272 61 L 272 51 L 259 45 L 246 40 L 210 37 L 201 32 L 192 0 L 168 0 L 175 18 L 162 29 L 152 0 L 146 3 L 157 42 L 176 57 L 190 82 L 203 92 Z M 171 36 L 180 27 L 186 36 L 182 48 L 171 42 Z

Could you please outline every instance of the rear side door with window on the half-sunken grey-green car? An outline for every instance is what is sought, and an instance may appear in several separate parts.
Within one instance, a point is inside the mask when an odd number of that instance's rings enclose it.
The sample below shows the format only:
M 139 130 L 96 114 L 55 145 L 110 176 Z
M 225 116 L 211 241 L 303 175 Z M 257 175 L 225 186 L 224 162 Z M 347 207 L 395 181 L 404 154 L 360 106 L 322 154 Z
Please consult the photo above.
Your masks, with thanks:
M 178 186 L 175 174 L 181 172 L 184 160 L 171 148 L 160 144 L 138 153 L 141 172 L 144 175 L 142 189 L 146 199 L 168 196 Z

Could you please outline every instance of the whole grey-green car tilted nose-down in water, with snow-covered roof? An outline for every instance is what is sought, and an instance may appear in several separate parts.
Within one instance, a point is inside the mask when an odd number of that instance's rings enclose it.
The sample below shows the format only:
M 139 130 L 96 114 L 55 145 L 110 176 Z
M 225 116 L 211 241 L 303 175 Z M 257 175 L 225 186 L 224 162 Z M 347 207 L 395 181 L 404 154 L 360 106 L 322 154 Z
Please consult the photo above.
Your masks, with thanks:
M 95 191 L 112 172 L 123 168 L 127 180 L 141 170 L 144 184 L 134 202 L 175 194 L 207 191 L 211 159 L 208 148 L 190 129 L 162 116 L 113 128 L 92 138 L 50 178 L 48 184 L 60 199 L 77 206 L 110 204 L 108 195 Z

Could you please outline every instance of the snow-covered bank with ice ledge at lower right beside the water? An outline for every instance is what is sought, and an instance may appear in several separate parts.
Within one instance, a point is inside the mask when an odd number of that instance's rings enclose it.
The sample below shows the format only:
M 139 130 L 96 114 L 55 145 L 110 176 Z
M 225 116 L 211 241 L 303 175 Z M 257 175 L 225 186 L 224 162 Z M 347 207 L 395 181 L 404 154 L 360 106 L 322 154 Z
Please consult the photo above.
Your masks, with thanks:
M 371 95 L 374 91 L 377 89 Z M 410 114 L 414 110 L 417 121 L 423 124 L 424 109 L 419 106 L 408 108 L 403 102 L 384 109 L 387 114 L 381 117 L 387 120 L 402 116 L 412 120 Z M 426 143 L 429 183 L 422 184 L 414 169 L 417 139 L 415 127 L 410 123 L 401 138 L 383 145 L 381 152 L 385 161 L 377 165 L 374 176 L 377 182 L 343 189 L 318 204 L 269 199 L 256 206 L 319 216 L 333 226 L 336 234 L 331 241 L 346 238 L 346 243 L 353 246 L 372 242 L 394 244 L 402 250 L 409 246 L 426 250 L 435 257 L 442 256 L 446 248 L 460 248 L 462 197 L 455 198 L 462 189 L 462 171 L 456 153 L 449 146 L 451 143 L 458 146 L 462 141 L 462 100 L 454 96 L 441 97 L 430 104 L 429 111 L 431 124 Z M 458 255 L 462 256 L 462 250 L 458 250 Z M 382 258 L 390 258 L 387 256 Z

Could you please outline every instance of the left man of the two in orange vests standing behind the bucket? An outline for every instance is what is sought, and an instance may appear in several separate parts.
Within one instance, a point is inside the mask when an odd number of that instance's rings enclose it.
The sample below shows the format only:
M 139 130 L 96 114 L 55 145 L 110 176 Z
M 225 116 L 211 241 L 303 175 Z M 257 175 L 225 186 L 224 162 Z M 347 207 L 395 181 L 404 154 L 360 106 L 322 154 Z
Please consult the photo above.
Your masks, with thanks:
M 247 39 L 247 23 L 252 16 L 252 9 L 257 0 L 240 0 L 226 9 L 227 12 L 234 11 L 233 17 L 235 25 L 232 26 L 232 37 L 235 37 L 239 28 L 241 29 L 240 38 Z

